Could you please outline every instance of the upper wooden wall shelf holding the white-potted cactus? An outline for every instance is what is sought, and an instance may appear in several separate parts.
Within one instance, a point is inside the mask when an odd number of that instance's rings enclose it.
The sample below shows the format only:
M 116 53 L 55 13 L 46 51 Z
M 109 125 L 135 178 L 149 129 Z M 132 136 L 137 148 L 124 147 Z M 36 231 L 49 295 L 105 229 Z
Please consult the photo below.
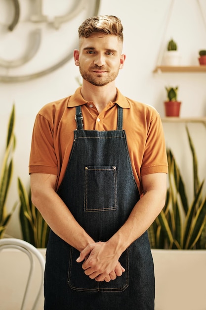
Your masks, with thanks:
M 155 72 L 206 72 L 206 65 L 199 66 L 157 66 Z

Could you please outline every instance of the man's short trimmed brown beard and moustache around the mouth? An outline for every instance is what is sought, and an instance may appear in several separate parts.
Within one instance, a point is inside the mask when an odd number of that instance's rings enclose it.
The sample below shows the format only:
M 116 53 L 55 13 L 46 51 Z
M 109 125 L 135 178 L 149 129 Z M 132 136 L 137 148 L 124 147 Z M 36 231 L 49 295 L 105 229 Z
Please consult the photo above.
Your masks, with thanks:
M 104 67 L 95 66 L 93 68 L 90 68 L 90 71 L 85 71 L 82 69 L 81 65 L 79 65 L 79 68 L 80 68 L 80 74 L 82 75 L 82 78 L 94 86 L 105 86 L 105 85 L 109 84 L 110 82 L 113 82 L 116 79 L 116 77 L 118 76 L 119 70 L 120 70 L 118 68 L 116 71 L 109 72 Z M 92 70 L 105 70 L 105 71 L 107 71 L 107 76 L 104 77 L 103 76 L 104 73 L 103 74 L 100 73 L 94 77 L 93 76 L 94 73 L 91 72 Z

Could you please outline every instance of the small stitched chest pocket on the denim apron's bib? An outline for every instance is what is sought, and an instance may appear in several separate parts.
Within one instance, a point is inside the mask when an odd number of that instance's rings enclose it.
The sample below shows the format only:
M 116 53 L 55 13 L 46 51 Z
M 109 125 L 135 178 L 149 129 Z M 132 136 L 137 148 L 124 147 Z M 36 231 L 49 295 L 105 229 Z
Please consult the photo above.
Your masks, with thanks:
M 117 210 L 115 166 L 86 166 L 84 169 L 84 211 Z

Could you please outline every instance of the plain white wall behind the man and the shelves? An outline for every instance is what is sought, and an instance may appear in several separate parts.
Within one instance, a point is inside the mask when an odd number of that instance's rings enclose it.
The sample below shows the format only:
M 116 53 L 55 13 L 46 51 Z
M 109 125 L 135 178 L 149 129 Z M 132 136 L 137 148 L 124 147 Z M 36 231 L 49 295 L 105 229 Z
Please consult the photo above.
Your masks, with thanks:
M 64 4 L 66 2 L 68 1 L 62 1 Z M 206 0 L 200 0 L 200 2 L 206 20 Z M 2 3 L 5 6 L 5 1 Z M 20 23 L 19 28 L 17 27 L 15 31 L 18 32 L 18 39 L 21 39 L 21 35 L 24 39 L 23 29 L 25 31 L 25 25 L 27 25 L 24 23 L 26 18 L 24 8 L 27 8 L 27 1 L 20 0 L 20 3 L 23 11 L 21 18 L 24 28 L 21 30 Z M 125 96 L 153 105 L 164 117 L 165 85 L 178 85 L 178 99 L 182 101 L 181 116 L 204 116 L 206 115 L 206 73 L 164 73 L 161 75 L 152 73 L 157 64 L 159 53 L 162 51 L 161 45 L 163 44 L 165 49 L 166 43 L 171 37 L 177 41 L 183 65 L 198 65 L 198 51 L 206 49 L 206 26 L 199 11 L 198 1 L 174 1 L 170 23 L 165 32 L 170 3 L 171 0 L 101 0 L 99 14 L 119 16 L 124 25 L 126 63 L 124 69 L 120 71 L 117 87 Z M 48 6 L 46 8 L 48 9 Z M 46 11 L 46 13 L 49 12 Z M 78 26 L 82 22 L 81 18 L 82 16 L 79 20 L 77 18 Z M 4 34 L 4 19 L 0 16 L 0 38 Z M 78 26 L 76 29 L 73 27 L 72 33 L 78 33 Z M 15 32 L 13 32 L 14 35 Z M 63 28 L 63 31 L 59 30 L 58 44 L 53 44 L 49 57 L 53 56 L 55 59 L 59 52 L 58 47 L 61 47 L 61 44 L 63 45 L 70 35 L 71 33 L 67 32 L 66 28 Z M 16 50 L 18 52 L 15 41 L 13 46 L 11 44 L 10 50 L 13 53 Z M 0 57 L 5 57 L 2 44 L 0 46 Z M 34 62 L 34 66 L 31 66 L 30 69 L 35 71 L 37 66 L 43 66 L 47 57 L 48 52 L 45 52 L 44 57 L 40 58 L 38 62 Z M 23 70 L 24 68 L 17 68 L 14 71 L 21 75 L 24 73 Z M 5 74 L 5 72 L 5 70 L 0 70 L 0 74 Z M 78 87 L 75 80 L 76 76 L 79 76 L 79 71 L 71 59 L 64 66 L 41 78 L 19 83 L 0 83 L 0 162 L 3 157 L 6 127 L 13 102 L 15 102 L 16 107 L 15 134 L 17 147 L 14 155 L 12 186 L 7 200 L 8 209 L 11 209 L 18 200 L 17 177 L 19 176 L 25 185 L 29 185 L 30 142 L 37 112 L 45 103 L 72 94 Z M 206 128 L 203 125 L 192 125 L 190 128 L 195 146 L 198 148 L 200 179 L 202 180 L 206 176 L 206 147 L 203 145 Z M 186 183 L 189 192 L 191 192 L 191 156 L 188 155 L 189 149 L 184 124 L 164 124 L 164 129 L 167 146 L 172 146 L 174 149 L 178 163 L 183 172 L 186 173 Z M 11 219 L 7 234 L 21 238 L 18 208 Z

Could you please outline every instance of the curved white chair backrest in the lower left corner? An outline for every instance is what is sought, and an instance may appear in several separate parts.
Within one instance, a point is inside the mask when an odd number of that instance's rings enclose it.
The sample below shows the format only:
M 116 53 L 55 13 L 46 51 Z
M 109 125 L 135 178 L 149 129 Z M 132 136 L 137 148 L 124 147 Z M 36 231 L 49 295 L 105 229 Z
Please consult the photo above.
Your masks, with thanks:
M 44 268 L 45 268 L 45 259 L 43 258 L 42 254 L 39 252 L 39 250 L 37 248 L 35 248 L 33 245 L 31 245 L 30 243 L 20 240 L 20 239 L 15 239 L 15 238 L 5 238 L 5 239 L 0 239 L 0 251 L 3 249 L 16 249 L 19 250 L 23 253 L 25 253 L 30 261 L 30 268 L 29 268 L 29 274 L 28 274 L 28 279 L 27 279 L 27 284 L 25 287 L 25 291 L 24 291 L 24 296 L 23 296 L 23 301 L 22 301 L 22 305 L 21 305 L 21 310 L 25 310 L 26 309 L 26 301 L 27 301 L 27 295 L 29 292 L 29 288 L 30 288 L 30 284 L 32 282 L 32 275 L 34 272 L 34 268 L 35 268 L 35 260 L 34 258 L 36 258 L 36 260 L 39 261 L 40 267 L 41 267 L 41 282 L 40 282 L 40 286 L 39 289 L 36 293 L 36 298 L 34 300 L 34 304 L 33 307 L 31 308 L 32 310 L 37 310 L 38 308 L 38 304 L 40 301 L 40 297 L 41 297 L 41 292 L 42 292 L 42 286 L 43 286 L 43 274 L 44 274 Z M 1 268 L 2 266 L 0 266 Z M 11 283 L 12 285 L 12 283 Z M 35 295 L 35 294 L 34 294 Z M 28 309 L 28 308 L 27 308 Z

